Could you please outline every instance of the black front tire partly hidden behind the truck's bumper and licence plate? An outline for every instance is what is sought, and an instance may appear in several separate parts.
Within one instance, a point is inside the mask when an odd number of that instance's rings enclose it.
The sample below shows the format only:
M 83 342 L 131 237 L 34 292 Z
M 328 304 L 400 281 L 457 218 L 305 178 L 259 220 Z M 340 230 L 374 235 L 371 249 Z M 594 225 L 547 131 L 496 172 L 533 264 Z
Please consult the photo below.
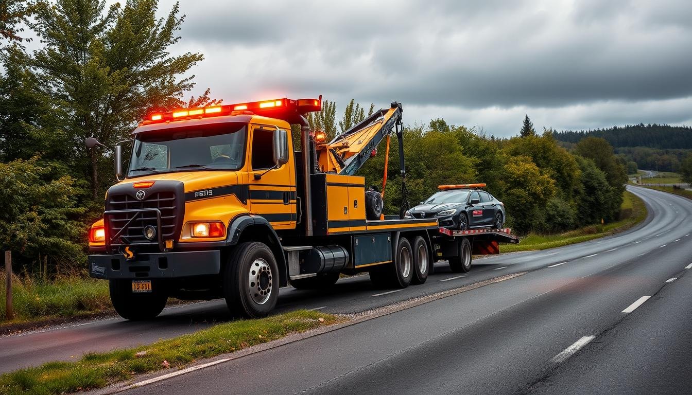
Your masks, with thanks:
M 133 293 L 131 279 L 110 279 L 108 288 L 116 313 L 125 320 L 151 320 L 161 314 L 168 300 L 163 282 L 152 279 L 152 292 Z

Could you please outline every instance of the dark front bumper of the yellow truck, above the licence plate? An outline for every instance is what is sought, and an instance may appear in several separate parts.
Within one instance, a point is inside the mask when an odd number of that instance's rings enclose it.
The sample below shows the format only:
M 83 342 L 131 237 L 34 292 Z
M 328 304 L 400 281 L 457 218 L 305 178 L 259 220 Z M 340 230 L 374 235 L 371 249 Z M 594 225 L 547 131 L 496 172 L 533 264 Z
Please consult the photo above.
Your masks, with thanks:
M 187 251 L 123 255 L 89 255 L 89 275 L 99 279 L 147 279 L 215 275 L 221 271 L 221 251 Z

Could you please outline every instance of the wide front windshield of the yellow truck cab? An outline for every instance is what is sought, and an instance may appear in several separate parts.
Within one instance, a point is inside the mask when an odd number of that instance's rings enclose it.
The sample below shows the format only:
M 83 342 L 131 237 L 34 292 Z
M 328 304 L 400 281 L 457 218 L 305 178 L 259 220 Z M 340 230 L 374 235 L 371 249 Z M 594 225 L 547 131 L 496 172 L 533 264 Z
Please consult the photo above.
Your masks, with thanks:
M 237 170 L 243 166 L 247 124 L 148 131 L 136 136 L 127 176 L 190 169 Z

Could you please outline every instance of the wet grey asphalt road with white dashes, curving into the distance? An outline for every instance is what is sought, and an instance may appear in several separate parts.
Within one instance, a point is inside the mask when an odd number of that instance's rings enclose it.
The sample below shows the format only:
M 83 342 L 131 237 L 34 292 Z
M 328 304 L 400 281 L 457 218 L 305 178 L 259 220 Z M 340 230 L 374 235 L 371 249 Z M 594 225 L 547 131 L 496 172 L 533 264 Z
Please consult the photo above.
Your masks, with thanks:
M 510 394 L 569 389 L 635 394 L 689 389 L 692 279 L 685 277 L 685 267 L 692 262 L 692 201 L 630 189 L 646 201 L 650 215 L 642 226 L 619 235 L 478 259 L 466 277 L 438 265 L 426 284 L 392 293 L 373 289 L 367 276 L 340 280 L 329 293 L 282 289 L 278 312 L 357 313 L 528 272 L 170 378 L 147 386 L 146 392 Z M 650 299 L 623 313 L 644 296 Z M 113 318 L 0 338 L 0 370 L 145 344 L 227 319 L 223 302 L 206 302 L 167 309 L 149 323 Z

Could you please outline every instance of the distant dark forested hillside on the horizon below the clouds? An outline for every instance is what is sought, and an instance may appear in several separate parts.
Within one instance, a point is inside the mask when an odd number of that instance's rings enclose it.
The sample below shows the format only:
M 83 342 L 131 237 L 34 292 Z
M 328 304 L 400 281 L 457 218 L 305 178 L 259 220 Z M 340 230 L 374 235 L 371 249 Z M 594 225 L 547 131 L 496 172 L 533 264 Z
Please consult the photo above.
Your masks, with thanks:
M 560 131 L 555 133 L 557 140 L 578 143 L 585 137 L 601 137 L 615 148 L 651 147 L 658 149 L 692 148 L 692 127 L 671 125 L 627 125 L 608 129 L 589 131 Z

